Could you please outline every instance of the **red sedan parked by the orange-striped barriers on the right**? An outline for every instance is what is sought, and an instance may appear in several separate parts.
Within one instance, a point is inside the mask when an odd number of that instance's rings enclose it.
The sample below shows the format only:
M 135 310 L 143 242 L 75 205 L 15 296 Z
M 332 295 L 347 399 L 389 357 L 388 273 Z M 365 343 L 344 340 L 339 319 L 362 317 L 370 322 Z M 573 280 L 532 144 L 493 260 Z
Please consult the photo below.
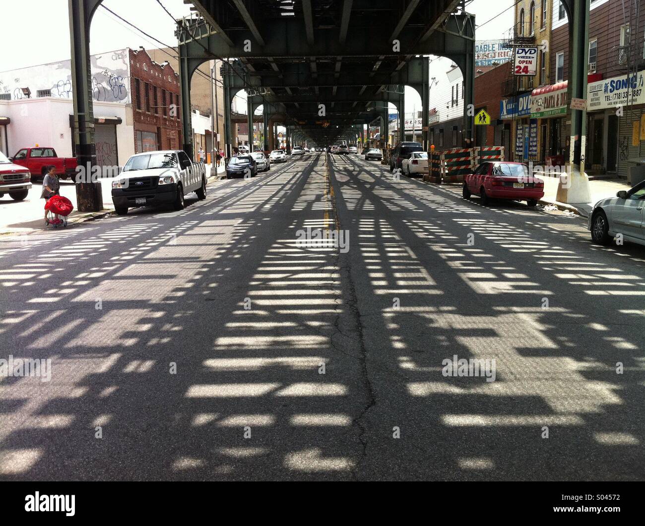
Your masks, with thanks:
M 473 173 L 464 177 L 464 199 L 479 195 L 486 206 L 490 199 L 526 201 L 535 206 L 544 197 L 544 181 L 528 173 L 521 162 L 482 162 Z

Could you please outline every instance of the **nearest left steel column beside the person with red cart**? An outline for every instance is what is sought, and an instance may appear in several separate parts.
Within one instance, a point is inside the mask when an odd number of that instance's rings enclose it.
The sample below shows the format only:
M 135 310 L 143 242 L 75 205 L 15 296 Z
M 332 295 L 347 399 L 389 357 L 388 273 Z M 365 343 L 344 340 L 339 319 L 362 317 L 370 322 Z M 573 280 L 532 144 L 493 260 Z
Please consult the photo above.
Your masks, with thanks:
M 100 182 L 90 175 L 96 164 L 94 143 L 94 102 L 92 101 L 92 72 L 90 70 L 90 24 L 101 0 L 70 0 L 70 41 L 72 48 L 72 99 L 74 104 L 74 142 L 78 164 L 86 177 L 77 180 L 76 199 L 81 212 L 103 209 Z

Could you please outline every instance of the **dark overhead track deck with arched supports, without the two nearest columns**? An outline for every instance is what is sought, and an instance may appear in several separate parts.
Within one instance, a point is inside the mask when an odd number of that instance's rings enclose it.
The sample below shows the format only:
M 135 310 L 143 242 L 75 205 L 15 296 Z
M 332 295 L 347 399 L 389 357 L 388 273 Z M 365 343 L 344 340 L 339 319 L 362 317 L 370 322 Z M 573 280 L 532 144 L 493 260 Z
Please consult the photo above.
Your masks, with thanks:
M 450 57 L 464 73 L 466 103 L 472 102 L 475 21 L 459 0 L 186 3 L 195 16 L 178 21 L 177 29 L 183 115 L 190 115 L 190 79 L 210 59 L 226 59 L 226 115 L 235 93 L 246 90 L 248 115 L 264 108 L 264 137 L 268 120 L 276 113 L 285 116 L 288 145 L 353 142 L 362 125 L 375 119 L 386 129 L 389 102 L 405 113 L 404 86 L 419 92 L 428 126 L 423 55 Z M 470 138 L 473 122 L 466 115 L 464 120 L 464 137 Z M 230 126 L 226 130 L 230 151 Z M 399 133 L 402 140 L 403 130 Z M 426 134 L 423 139 L 426 143 Z M 192 150 L 191 141 L 184 133 L 184 150 Z M 382 146 L 385 141 L 382 134 Z

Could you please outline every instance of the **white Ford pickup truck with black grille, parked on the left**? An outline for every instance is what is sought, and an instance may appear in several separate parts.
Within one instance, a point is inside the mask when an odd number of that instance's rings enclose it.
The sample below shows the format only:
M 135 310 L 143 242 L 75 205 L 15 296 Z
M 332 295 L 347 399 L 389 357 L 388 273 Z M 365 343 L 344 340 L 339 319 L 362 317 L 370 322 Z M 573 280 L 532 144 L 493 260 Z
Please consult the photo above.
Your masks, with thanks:
M 206 167 L 203 162 L 191 162 L 183 150 L 132 155 L 112 181 L 112 202 L 119 215 L 137 206 L 172 204 L 181 210 L 184 196 L 191 192 L 206 199 Z

